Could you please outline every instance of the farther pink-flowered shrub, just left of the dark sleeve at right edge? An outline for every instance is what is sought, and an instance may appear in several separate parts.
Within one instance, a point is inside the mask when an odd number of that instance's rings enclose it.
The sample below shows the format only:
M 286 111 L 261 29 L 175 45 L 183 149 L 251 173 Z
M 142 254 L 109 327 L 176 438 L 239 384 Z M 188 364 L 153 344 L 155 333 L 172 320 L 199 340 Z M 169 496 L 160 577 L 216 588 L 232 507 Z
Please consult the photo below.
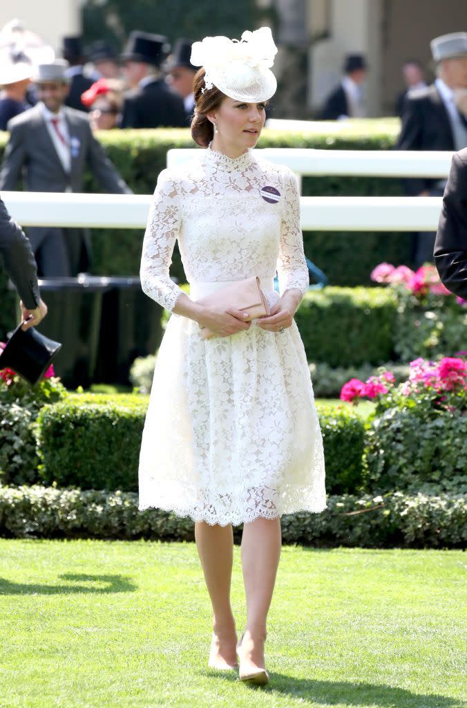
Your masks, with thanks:
M 394 352 L 400 360 L 435 358 L 466 348 L 466 301 L 446 290 L 434 265 L 414 271 L 380 263 L 371 280 L 389 285 L 397 297 Z

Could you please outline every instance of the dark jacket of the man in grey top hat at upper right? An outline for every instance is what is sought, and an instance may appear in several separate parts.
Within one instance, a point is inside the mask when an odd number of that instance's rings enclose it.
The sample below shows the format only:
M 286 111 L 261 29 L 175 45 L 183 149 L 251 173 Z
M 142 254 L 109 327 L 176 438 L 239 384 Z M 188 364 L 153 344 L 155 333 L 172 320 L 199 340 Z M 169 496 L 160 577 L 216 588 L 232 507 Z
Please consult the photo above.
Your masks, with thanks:
M 435 84 L 410 91 L 405 98 L 398 150 L 454 150 L 451 121 Z M 429 190 L 437 179 L 404 181 L 408 195 Z

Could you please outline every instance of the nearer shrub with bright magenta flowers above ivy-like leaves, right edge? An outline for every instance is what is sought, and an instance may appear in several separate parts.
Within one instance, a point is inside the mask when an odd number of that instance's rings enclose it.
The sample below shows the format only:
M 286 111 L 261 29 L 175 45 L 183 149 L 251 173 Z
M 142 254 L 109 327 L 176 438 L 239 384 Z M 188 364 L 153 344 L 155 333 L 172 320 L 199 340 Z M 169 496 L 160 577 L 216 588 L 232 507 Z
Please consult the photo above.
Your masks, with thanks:
M 366 382 L 351 379 L 340 397 L 374 399 L 367 426 L 364 469 L 372 492 L 461 492 L 467 484 L 467 352 L 439 362 L 410 363 L 396 385 L 381 371 Z

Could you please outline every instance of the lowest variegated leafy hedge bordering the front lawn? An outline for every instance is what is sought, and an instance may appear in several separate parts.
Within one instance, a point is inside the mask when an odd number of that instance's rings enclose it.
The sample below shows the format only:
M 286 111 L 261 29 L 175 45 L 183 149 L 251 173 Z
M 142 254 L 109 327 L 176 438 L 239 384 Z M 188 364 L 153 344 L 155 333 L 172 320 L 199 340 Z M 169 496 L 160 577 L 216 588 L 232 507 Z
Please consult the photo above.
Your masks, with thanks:
M 465 498 L 448 494 L 331 496 L 320 514 L 283 516 L 282 537 L 317 547 L 462 548 L 466 511 Z M 193 541 L 194 525 L 159 509 L 139 512 L 132 492 L 0 486 L 0 535 Z

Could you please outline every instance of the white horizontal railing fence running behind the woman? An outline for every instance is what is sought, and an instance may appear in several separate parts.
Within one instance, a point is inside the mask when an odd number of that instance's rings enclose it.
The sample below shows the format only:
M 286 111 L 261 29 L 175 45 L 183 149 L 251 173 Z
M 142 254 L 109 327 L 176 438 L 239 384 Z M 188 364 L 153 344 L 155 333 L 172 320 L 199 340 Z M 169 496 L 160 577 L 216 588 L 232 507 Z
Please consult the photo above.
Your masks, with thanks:
M 446 178 L 450 152 L 263 149 L 258 153 L 305 175 Z M 173 149 L 168 166 L 202 151 Z M 151 195 L 4 192 L 11 215 L 23 226 L 144 229 Z M 434 231 L 440 197 L 301 197 L 306 231 Z

